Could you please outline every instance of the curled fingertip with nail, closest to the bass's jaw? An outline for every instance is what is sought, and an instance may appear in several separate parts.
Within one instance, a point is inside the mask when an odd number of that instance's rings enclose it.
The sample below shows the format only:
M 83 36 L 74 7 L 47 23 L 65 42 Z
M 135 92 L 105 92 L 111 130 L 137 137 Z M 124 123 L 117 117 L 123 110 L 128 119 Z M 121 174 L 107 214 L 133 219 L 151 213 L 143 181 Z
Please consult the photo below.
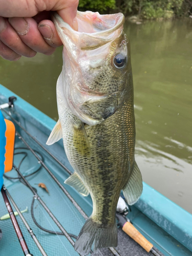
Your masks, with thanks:
M 52 47 L 58 47 L 62 45 L 55 26 L 51 20 L 42 20 L 38 25 L 38 29 L 48 45 Z

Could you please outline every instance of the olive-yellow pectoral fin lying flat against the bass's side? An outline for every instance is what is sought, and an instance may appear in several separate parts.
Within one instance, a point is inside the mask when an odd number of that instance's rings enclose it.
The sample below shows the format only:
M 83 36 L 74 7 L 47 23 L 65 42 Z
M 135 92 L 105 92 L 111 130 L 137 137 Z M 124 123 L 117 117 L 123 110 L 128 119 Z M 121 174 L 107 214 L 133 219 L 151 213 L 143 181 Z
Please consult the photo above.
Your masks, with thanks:
M 74 126 L 73 145 L 79 154 L 90 156 L 91 147 L 83 123 L 79 126 Z

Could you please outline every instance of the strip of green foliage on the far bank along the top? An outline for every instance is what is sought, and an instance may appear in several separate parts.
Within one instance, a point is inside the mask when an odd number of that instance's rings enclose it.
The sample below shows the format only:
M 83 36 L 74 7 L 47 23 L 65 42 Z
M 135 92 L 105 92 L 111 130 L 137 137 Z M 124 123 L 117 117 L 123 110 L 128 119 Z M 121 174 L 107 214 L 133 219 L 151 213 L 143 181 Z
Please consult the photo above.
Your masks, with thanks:
M 192 15 L 192 0 L 79 0 L 84 10 L 123 12 L 141 18 L 172 18 Z

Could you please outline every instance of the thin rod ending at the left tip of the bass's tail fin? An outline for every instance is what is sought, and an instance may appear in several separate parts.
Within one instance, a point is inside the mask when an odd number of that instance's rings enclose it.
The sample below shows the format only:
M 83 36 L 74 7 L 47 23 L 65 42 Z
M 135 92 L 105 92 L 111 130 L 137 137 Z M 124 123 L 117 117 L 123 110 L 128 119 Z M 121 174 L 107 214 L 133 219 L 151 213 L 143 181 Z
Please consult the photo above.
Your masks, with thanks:
M 73 239 L 69 236 L 68 232 L 65 230 L 65 228 L 63 228 L 63 226 L 60 224 L 60 222 L 56 219 L 56 217 L 53 215 L 53 213 L 51 212 L 51 210 L 47 207 L 47 205 L 45 204 L 45 202 L 38 196 L 38 194 L 36 193 L 35 189 L 30 185 L 30 183 L 27 181 L 27 179 L 23 176 L 22 173 L 20 173 L 19 169 L 13 164 L 13 168 L 16 170 L 16 172 L 18 173 L 18 175 L 20 176 L 20 178 L 23 179 L 23 181 L 26 183 L 26 185 L 30 188 L 30 190 L 33 193 L 33 197 L 34 199 L 37 199 L 39 201 L 39 203 L 42 205 L 42 207 L 44 207 L 44 209 L 47 211 L 47 213 L 49 214 L 49 216 L 52 218 L 52 220 L 55 222 L 55 224 L 58 226 L 58 228 L 62 231 L 62 233 L 65 235 L 65 237 L 68 239 L 68 241 L 72 244 L 72 246 L 74 247 L 75 242 L 73 241 Z M 81 254 L 79 254 L 81 255 Z

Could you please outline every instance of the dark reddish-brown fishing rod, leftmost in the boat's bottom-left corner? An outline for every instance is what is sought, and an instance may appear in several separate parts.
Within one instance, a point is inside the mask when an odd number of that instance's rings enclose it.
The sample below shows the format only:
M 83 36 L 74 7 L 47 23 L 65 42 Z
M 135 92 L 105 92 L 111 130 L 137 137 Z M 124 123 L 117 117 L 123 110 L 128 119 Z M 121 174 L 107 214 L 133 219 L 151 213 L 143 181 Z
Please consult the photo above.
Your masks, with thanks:
M 31 254 L 30 251 L 29 251 L 29 248 L 28 248 L 27 243 L 25 241 L 25 238 L 23 236 L 22 230 L 20 230 L 20 227 L 18 225 L 18 222 L 17 222 L 16 217 L 14 215 L 14 212 L 12 210 L 11 204 L 9 202 L 9 199 L 8 199 L 7 195 L 6 195 L 6 188 L 5 188 L 4 185 L 3 185 L 2 189 L 1 189 L 1 192 L 2 192 L 3 199 L 5 201 L 5 205 L 7 207 L 7 210 L 9 212 L 10 219 L 11 219 L 11 221 L 13 223 L 13 227 L 15 229 L 18 241 L 19 241 L 20 246 L 22 247 L 22 250 L 24 252 L 24 255 L 25 256 L 33 256 L 33 254 Z

